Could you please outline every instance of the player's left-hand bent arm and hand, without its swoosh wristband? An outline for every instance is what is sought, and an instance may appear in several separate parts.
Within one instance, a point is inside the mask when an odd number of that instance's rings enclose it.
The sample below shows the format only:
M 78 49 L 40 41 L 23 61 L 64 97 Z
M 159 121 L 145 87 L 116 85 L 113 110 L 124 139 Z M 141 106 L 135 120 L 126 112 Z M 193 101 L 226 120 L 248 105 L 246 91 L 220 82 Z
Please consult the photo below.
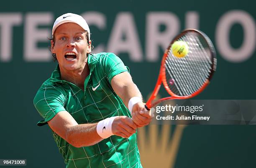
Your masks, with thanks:
M 97 133 L 98 123 L 78 124 L 67 111 L 57 113 L 48 124 L 61 138 L 77 148 L 95 145 L 103 140 Z M 116 117 L 112 123 L 113 134 L 123 138 L 130 137 L 136 132 L 136 128 L 131 118 L 126 116 Z

